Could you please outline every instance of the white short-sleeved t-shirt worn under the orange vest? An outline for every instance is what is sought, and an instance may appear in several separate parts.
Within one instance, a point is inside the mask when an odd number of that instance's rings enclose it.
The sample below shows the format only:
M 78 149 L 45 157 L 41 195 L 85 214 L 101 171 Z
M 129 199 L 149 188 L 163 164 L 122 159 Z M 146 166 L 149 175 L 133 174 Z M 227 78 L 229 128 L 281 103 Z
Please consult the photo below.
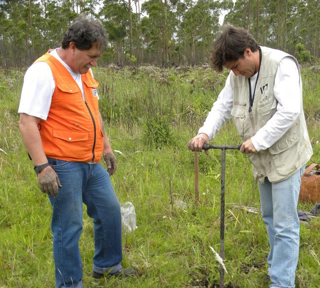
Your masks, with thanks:
M 81 74 L 73 72 L 71 68 L 59 57 L 56 49 L 50 52 L 53 57 L 66 67 L 72 78 L 82 91 L 85 100 L 85 93 L 81 80 Z M 90 69 L 92 74 L 92 71 Z M 37 62 L 31 65 L 24 75 L 18 113 L 26 113 L 31 116 L 47 120 L 55 83 L 51 68 L 46 62 Z M 99 99 L 99 98 L 98 98 Z

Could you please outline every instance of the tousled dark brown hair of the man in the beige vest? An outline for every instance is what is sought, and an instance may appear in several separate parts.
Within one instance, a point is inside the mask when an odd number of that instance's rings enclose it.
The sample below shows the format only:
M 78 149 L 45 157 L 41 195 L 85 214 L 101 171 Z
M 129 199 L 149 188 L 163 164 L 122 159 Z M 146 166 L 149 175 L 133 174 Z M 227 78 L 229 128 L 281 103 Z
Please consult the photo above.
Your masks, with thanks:
M 242 58 L 247 47 L 255 52 L 259 46 L 246 29 L 231 25 L 223 26 L 222 33 L 213 42 L 210 54 L 213 70 L 220 72 L 226 62 Z

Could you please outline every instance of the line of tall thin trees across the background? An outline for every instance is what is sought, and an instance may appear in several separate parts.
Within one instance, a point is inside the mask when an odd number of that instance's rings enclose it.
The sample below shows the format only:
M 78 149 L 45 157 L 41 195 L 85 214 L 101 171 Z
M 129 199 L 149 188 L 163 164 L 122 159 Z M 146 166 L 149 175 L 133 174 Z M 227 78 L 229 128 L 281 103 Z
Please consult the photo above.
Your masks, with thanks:
M 319 0 L 0 0 L 0 66 L 28 66 L 80 14 L 99 18 L 109 35 L 100 64 L 195 65 L 224 24 L 244 27 L 260 45 L 319 57 Z

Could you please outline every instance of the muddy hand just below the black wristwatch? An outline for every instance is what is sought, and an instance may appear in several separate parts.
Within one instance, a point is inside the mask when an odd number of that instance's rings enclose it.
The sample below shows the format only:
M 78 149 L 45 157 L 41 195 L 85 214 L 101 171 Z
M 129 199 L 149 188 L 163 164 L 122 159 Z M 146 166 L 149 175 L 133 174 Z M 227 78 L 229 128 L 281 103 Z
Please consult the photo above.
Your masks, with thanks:
M 62 187 L 58 175 L 56 175 L 51 166 L 44 168 L 38 174 L 38 182 L 43 193 L 47 193 L 48 195 L 52 195 L 54 197 L 58 195 L 58 188 Z

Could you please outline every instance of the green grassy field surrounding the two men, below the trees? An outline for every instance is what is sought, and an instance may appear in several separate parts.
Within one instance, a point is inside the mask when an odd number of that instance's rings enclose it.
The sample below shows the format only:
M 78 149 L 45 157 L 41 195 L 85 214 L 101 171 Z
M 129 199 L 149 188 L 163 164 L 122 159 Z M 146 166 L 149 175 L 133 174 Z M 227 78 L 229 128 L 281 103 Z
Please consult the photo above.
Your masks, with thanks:
M 93 280 L 93 225 L 84 214 L 80 248 L 86 288 L 215 287 L 219 265 L 220 171 L 218 151 L 199 155 L 200 206 L 194 206 L 194 157 L 186 144 L 201 126 L 227 74 L 207 66 L 160 70 L 94 70 L 100 107 L 118 169 L 112 181 L 121 203 L 135 206 L 138 228 L 123 233 L 124 267 L 132 279 Z M 320 73 L 302 69 L 304 108 L 320 163 Z M 18 132 L 23 72 L 0 70 L 0 288 L 54 287 L 51 205 L 38 188 L 33 163 Z M 215 144 L 240 144 L 232 122 Z M 186 203 L 182 209 L 177 205 Z M 298 204 L 309 212 L 314 204 Z M 225 275 L 228 288 L 268 287 L 268 242 L 257 186 L 245 155 L 227 150 Z M 297 288 L 318 288 L 320 220 L 302 225 Z

